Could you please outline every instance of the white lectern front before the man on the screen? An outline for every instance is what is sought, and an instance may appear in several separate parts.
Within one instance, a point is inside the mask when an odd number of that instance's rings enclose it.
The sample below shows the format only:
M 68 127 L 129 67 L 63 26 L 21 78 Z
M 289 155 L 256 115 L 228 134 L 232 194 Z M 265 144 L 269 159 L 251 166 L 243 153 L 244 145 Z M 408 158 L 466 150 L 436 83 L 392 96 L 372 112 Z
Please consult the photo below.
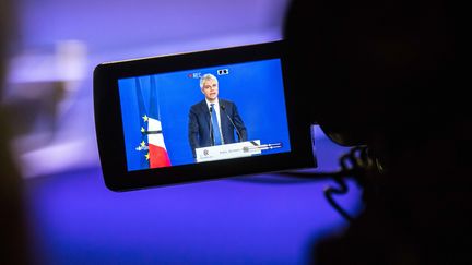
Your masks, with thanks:
M 249 157 L 261 152 L 260 140 L 196 148 L 197 162 Z

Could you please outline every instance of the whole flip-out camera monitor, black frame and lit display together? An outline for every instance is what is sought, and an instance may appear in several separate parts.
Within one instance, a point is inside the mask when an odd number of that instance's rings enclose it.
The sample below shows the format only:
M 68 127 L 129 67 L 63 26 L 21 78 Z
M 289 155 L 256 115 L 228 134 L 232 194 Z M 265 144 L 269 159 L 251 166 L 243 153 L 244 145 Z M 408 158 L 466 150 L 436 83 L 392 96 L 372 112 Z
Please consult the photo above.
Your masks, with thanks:
M 107 188 L 316 167 L 306 106 L 290 89 L 282 50 L 279 40 L 97 65 L 94 113 Z M 200 87 L 208 74 L 217 80 L 214 111 L 199 108 L 208 103 Z

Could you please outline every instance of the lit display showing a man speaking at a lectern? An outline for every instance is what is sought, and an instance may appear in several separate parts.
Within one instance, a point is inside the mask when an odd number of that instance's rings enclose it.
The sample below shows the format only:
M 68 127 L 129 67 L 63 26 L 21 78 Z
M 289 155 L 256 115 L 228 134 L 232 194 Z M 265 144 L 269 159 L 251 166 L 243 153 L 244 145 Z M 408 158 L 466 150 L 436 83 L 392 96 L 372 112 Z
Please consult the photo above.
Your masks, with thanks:
M 127 170 L 290 153 L 283 85 L 280 59 L 119 79 Z

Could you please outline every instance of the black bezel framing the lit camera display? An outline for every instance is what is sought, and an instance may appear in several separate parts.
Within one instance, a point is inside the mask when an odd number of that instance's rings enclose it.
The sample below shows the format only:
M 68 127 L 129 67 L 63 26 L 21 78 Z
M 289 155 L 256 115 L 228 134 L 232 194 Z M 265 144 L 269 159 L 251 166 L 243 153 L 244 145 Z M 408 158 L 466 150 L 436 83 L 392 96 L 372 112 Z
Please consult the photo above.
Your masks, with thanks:
M 299 118 L 303 117 L 303 108 L 297 106 L 296 97 L 291 93 L 282 45 L 282 40 L 279 40 L 98 64 L 94 70 L 94 112 L 98 152 L 106 186 L 113 191 L 128 191 L 232 176 L 316 167 L 310 127 Z M 290 153 L 128 171 L 118 80 L 268 59 L 281 60 L 292 149 Z

